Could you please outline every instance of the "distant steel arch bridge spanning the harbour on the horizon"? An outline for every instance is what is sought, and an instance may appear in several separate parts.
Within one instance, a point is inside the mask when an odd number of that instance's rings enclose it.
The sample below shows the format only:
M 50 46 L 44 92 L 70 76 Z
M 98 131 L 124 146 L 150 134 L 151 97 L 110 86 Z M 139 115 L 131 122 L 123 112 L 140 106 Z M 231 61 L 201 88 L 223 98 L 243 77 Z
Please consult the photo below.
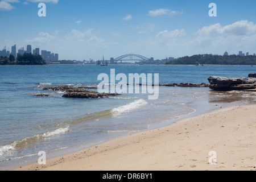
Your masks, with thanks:
M 108 60 L 108 63 L 110 64 L 117 64 L 118 61 L 122 63 L 122 61 L 139 61 L 143 63 L 144 61 L 154 61 L 154 58 L 151 57 L 150 59 L 147 57 L 144 57 L 142 55 L 136 55 L 133 53 L 127 54 L 127 55 L 122 55 L 117 58 L 111 57 L 110 60 Z

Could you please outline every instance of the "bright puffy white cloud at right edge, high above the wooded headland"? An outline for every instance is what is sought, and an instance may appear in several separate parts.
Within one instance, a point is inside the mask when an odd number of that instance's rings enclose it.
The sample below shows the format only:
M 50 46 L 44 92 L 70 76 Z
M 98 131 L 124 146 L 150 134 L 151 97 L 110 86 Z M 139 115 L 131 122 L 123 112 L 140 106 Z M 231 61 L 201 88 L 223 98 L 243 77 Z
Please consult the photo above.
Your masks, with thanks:
M 216 23 L 207 27 L 201 28 L 197 31 L 200 36 L 224 36 L 224 35 L 249 35 L 256 34 L 256 24 L 241 20 L 233 24 L 228 24 L 224 27 L 220 23 Z

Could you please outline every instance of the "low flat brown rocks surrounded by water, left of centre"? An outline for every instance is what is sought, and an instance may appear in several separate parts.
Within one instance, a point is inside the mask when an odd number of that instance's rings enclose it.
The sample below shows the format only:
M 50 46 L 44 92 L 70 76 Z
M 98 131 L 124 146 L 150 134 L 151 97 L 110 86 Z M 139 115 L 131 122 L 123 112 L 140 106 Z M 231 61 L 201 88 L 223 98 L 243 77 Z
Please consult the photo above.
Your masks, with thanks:
M 117 93 L 98 93 L 90 90 L 85 90 L 87 87 L 71 87 L 71 86 L 56 86 L 56 87 L 46 87 L 43 90 L 53 90 L 65 92 L 62 97 L 67 98 L 104 98 L 109 96 L 118 96 Z M 90 87 L 92 89 L 92 87 Z

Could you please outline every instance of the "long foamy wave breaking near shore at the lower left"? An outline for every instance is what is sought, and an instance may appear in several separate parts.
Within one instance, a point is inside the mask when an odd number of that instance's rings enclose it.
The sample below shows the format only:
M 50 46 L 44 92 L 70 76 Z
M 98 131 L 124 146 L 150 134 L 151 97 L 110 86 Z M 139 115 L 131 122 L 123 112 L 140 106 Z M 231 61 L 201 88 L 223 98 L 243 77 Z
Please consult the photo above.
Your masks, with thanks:
M 15 141 L 11 144 L 7 144 L 5 146 L 0 146 L 0 156 L 5 155 L 9 151 L 13 151 L 16 148 L 22 148 L 24 146 L 27 146 L 28 144 L 31 144 L 32 142 L 35 142 L 38 139 L 47 138 L 47 137 L 53 137 L 55 135 L 60 135 L 67 133 L 69 131 L 69 126 L 67 127 L 61 127 L 59 129 L 56 129 L 54 131 L 47 131 L 43 134 L 34 135 L 33 137 L 27 137 L 20 141 Z

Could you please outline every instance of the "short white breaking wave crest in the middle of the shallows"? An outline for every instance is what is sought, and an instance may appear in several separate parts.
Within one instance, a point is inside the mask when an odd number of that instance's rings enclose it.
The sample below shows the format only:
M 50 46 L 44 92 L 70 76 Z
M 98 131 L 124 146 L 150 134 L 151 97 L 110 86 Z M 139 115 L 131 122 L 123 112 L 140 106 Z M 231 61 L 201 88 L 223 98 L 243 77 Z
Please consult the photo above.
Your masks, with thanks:
M 113 114 L 126 113 L 126 112 L 129 112 L 131 110 L 137 109 L 138 107 L 146 105 L 146 104 L 148 104 L 148 103 L 143 99 L 135 100 L 134 102 L 131 102 L 129 104 L 119 106 L 117 108 L 112 109 L 112 113 Z

